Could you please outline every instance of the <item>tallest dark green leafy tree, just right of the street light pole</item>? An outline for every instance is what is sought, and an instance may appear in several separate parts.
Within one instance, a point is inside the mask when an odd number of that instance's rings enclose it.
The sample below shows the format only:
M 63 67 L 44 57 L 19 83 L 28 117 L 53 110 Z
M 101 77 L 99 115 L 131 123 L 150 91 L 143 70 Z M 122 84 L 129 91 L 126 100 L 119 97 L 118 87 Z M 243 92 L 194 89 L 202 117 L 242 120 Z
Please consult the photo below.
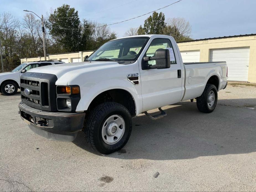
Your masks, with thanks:
M 74 52 L 79 50 L 81 25 L 78 12 L 74 8 L 66 4 L 58 7 L 50 14 L 45 26 L 50 30 L 53 39 L 61 45 L 63 51 Z

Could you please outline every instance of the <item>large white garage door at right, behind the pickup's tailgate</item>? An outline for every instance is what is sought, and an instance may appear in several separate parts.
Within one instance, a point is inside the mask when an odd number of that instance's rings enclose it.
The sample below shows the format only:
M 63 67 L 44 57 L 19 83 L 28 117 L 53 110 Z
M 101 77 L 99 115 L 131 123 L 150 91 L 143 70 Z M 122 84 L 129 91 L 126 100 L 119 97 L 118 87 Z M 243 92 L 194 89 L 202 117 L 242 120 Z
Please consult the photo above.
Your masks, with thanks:
M 248 81 L 250 47 L 212 49 L 210 61 L 226 61 L 229 81 Z

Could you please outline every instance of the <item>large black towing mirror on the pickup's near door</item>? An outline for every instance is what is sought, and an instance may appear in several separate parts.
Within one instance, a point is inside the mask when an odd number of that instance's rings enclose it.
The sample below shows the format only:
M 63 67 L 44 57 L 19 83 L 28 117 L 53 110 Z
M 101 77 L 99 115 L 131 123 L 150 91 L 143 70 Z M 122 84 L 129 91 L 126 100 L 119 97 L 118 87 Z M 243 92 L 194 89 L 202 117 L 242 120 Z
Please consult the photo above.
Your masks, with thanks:
M 170 68 L 170 53 L 168 49 L 156 50 L 154 57 L 144 57 L 144 61 L 156 60 L 155 65 L 146 65 L 146 69 L 164 69 Z

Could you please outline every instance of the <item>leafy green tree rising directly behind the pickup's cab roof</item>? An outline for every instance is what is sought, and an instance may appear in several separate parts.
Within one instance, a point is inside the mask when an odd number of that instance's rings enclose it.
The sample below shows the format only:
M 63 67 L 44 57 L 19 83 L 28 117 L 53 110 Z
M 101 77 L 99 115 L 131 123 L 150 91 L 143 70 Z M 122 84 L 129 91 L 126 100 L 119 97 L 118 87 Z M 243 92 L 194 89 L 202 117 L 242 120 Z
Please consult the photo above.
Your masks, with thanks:
M 144 31 L 146 34 L 161 34 L 162 28 L 166 26 L 165 16 L 162 12 L 159 14 L 157 12 L 153 12 L 152 16 L 150 15 L 144 21 Z

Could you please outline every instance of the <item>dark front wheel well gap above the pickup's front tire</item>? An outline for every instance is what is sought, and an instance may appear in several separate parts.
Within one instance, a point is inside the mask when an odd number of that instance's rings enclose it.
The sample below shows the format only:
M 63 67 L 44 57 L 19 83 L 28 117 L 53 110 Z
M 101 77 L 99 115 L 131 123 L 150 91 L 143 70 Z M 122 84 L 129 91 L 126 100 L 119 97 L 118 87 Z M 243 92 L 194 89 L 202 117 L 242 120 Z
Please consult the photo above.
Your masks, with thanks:
M 136 116 L 135 102 L 133 100 L 132 95 L 126 90 L 110 89 L 102 92 L 92 100 L 87 111 L 89 111 L 90 113 L 90 111 L 92 111 L 97 105 L 104 102 L 120 103 L 121 105 L 125 106 L 129 110 L 131 116 Z M 89 113 L 86 113 L 86 114 L 89 114 Z

